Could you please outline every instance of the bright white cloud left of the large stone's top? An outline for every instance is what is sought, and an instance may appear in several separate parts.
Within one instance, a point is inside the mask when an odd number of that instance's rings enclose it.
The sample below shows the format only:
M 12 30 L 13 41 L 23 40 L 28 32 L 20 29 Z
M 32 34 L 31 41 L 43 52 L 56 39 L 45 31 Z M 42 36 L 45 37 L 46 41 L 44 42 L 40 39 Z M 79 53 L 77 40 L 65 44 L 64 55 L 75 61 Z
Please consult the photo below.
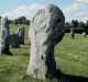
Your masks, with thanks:
M 26 19 L 31 20 L 35 12 L 41 8 L 40 4 L 31 4 L 31 5 L 21 5 L 16 9 L 12 9 L 9 12 L 4 12 L 2 16 L 7 15 L 10 20 L 18 19 L 20 16 L 25 16 Z

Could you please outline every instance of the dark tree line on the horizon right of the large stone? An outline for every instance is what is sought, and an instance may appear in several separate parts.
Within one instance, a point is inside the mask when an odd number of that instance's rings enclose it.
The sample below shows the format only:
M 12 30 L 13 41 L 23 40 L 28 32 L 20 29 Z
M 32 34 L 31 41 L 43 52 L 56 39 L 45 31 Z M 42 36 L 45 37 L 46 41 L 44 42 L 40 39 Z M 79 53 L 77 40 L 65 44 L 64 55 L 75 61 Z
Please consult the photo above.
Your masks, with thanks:
M 88 33 L 88 21 L 86 22 L 79 22 L 78 20 L 72 20 L 72 22 L 65 23 L 65 30 L 67 33 L 70 32 L 70 30 L 74 30 L 75 32 L 86 32 Z

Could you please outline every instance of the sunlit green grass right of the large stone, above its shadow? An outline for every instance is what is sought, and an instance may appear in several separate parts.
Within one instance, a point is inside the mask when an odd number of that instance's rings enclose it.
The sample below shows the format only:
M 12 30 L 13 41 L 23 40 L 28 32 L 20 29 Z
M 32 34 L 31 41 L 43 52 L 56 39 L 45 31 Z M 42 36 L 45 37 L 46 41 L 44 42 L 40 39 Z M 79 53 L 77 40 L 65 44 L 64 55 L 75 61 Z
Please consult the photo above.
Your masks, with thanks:
M 66 35 L 55 47 L 57 68 L 66 74 L 88 77 L 88 37 Z

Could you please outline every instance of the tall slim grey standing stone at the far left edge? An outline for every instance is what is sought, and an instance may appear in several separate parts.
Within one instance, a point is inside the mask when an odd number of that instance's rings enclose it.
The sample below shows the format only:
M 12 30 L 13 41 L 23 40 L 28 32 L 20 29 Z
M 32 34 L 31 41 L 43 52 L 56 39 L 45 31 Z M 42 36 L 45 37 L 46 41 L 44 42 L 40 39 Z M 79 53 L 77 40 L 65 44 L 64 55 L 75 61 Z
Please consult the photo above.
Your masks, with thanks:
M 0 30 L 0 52 L 11 55 L 9 50 L 9 20 L 7 16 L 1 19 L 1 30 Z

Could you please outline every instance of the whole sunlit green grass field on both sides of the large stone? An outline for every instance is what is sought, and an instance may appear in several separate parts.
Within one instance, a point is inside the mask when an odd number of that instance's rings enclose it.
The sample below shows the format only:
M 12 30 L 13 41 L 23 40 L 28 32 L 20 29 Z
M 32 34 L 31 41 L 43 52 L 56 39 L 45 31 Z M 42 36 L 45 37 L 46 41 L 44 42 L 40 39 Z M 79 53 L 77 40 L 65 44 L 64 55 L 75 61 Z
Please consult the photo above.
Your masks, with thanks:
M 10 26 L 11 32 L 16 30 L 16 25 Z M 30 44 L 26 35 L 29 28 L 25 27 L 25 45 L 11 48 L 13 56 L 0 55 L 0 82 L 42 82 L 31 78 L 22 80 L 30 59 Z M 75 39 L 70 39 L 70 35 L 66 34 L 55 47 L 55 59 L 57 69 L 63 73 L 88 78 L 88 36 L 84 38 L 82 35 L 76 35 Z

